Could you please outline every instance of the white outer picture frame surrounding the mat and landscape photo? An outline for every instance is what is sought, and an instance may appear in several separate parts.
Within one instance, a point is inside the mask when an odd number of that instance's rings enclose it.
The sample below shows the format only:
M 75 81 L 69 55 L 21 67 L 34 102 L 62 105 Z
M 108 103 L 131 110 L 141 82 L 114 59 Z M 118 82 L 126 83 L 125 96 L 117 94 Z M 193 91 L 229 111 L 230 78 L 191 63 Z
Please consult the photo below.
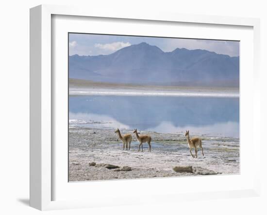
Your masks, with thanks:
M 53 190 L 55 185 L 53 183 L 55 172 L 53 168 L 53 159 L 55 156 L 53 147 L 53 112 L 54 95 L 53 95 L 53 65 L 51 59 L 53 57 L 52 46 L 53 39 L 51 33 L 52 16 L 76 16 L 80 18 L 95 17 L 95 18 L 117 18 L 117 19 L 131 19 L 138 20 L 139 22 L 150 21 L 164 21 L 168 22 L 183 22 L 198 24 L 211 24 L 211 25 L 227 25 L 234 28 L 235 26 L 247 26 L 252 28 L 253 31 L 253 59 L 251 59 L 252 77 L 253 77 L 253 104 L 251 105 L 251 120 L 252 120 L 252 133 L 251 151 L 256 152 L 260 148 L 259 136 L 255 135 L 256 130 L 260 130 L 260 86 L 259 78 L 259 52 L 260 52 L 260 22 L 256 18 L 232 18 L 232 17 L 218 17 L 218 16 L 202 16 L 202 15 L 183 15 L 183 14 L 169 14 L 169 13 L 141 13 L 141 12 L 129 12 L 129 11 L 102 11 L 96 8 L 74 8 L 67 6 L 54 6 L 54 5 L 40 5 L 30 10 L 30 206 L 39 210 L 53 210 L 53 209 L 67 209 L 67 208 L 81 208 L 81 207 L 100 207 L 105 205 L 114 205 L 114 199 L 116 199 L 117 205 L 138 204 L 145 201 L 141 197 L 137 199 L 127 198 L 121 201 L 123 193 L 117 194 L 112 200 L 110 197 L 100 201 L 95 198 L 94 201 L 90 198 L 86 199 L 65 199 L 55 200 L 53 197 Z M 71 17 L 70 17 L 71 18 Z M 241 46 L 242 49 L 242 46 Z M 242 84 L 242 79 L 241 79 Z M 251 110 L 251 109 L 250 109 Z M 240 120 L 240 126 L 242 126 L 242 118 Z M 245 140 L 244 143 L 246 142 Z M 241 155 L 242 156 L 242 155 Z M 244 196 L 258 196 L 260 191 L 260 163 L 259 156 L 252 154 L 253 164 L 255 164 L 255 171 L 253 171 L 253 183 L 247 187 L 231 188 L 224 191 L 207 191 L 200 192 L 198 194 L 192 192 L 179 193 L 174 190 L 173 193 L 164 193 L 164 191 L 158 194 L 153 193 L 150 196 L 150 203 L 157 202 L 177 202 L 181 199 L 198 199 L 205 198 L 227 198 L 227 197 L 244 197 Z M 66 173 L 67 174 L 67 173 Z M 242 174 L 242 173 L 241 173 Z M 138 183 L 147 184 L 148 180 L 141 179 Z M 155 180 L 155 179 L 152 179 Z M 167 179 L 156 179 L 163 180 Z M 174 179 L 169 179 L 170 183 L 175 183 Z M 200 179 L 199 179 L 200 180 Z M 207 180 L 202 178 L 201 181 Z M 223 179 L 222 179 L 223 180 Z M 128 180 L 129 181 L 129 180 Z M 136 180 L 135 180 L 136 181 Z M 107 181 L 98 182 L 99 185 L 107 185 Z M 117 185 L 122 183 L 117 180 Z M 123 180 L 123 183 L 125 180 Z M 77 183 L 78 184 L 78 183 Z M 97 186 L 97 183 L 95 183 Z M 144 197 L 145 198 L 145 197 Z

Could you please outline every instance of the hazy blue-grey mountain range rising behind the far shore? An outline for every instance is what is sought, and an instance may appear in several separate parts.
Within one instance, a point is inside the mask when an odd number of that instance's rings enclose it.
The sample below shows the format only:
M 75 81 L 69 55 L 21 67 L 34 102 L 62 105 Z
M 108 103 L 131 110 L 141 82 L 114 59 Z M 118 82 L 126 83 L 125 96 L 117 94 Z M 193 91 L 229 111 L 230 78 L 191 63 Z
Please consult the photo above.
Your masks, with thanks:
M 97 56 L 69 56 L 69 78 L 176 86 L 239 86 L 239 56 L 177 48 L 163 52 L 142 42 Z

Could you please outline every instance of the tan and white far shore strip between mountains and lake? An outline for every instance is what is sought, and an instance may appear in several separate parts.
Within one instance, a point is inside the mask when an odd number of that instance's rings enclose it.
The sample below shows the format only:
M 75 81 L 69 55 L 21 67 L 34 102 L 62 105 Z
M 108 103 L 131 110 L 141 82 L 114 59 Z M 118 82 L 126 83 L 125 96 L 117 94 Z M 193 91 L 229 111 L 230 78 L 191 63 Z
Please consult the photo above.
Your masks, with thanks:
M 69 95 L 239 97 L 238 88 L 146 86 L 70 79 Z

